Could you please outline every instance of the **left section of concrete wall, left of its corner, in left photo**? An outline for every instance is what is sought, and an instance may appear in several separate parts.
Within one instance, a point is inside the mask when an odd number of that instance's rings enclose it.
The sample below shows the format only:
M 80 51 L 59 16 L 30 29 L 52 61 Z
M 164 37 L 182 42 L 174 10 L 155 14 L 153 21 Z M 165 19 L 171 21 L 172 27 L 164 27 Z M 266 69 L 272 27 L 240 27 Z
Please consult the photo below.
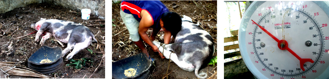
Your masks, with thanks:
M 6 13 L 15 8 L 24 7 L 32 3 L 41 3 L 42 0 L 0 0 L 0 13 Z

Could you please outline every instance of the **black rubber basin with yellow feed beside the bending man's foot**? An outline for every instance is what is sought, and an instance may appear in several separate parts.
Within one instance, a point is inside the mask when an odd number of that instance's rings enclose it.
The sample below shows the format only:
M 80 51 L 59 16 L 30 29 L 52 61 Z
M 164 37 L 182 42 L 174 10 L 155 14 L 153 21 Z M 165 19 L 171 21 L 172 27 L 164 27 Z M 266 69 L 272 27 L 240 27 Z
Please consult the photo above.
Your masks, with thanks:
M 149 60 L 144 53 L 119 60 L 112 63 L 112 78 L 113 79 L 146 79 L 149 74 L 149 69 L 152 66 L 151 60 Z M 127 77 L 124 74 L 124 70 L 134 68 L 136 69 L 136 75 Z

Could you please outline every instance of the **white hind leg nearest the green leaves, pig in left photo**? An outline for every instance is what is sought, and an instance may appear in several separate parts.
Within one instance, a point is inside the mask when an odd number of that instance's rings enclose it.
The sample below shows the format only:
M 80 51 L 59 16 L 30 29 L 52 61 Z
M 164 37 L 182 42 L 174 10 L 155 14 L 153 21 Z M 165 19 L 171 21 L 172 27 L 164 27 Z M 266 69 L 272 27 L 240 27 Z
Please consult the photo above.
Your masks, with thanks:
M 91 43 L 91 38 L 92 37 L 89 36 L 89 38 L 87 38 L 85 41 L 79 42 L 79 43 L 75 43 L 74 48 L 73 48 L 73 51 L 66 56 L 65 61 L 70 60 L 80 50 L 87 48 L 90 45 L 90 43 Z

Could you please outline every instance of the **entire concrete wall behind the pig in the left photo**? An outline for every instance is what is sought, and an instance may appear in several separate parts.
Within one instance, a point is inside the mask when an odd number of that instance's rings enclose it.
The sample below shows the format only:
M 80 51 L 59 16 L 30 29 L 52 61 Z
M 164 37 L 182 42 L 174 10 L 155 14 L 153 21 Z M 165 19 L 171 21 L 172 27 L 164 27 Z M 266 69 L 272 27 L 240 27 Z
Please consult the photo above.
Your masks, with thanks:
M 90 9 L 91 14 L 105 19 L 105 0 L 0 0 L 0 13 L 6 13 L 32 3 L 60 5 L 78 11 L 81 9 Z

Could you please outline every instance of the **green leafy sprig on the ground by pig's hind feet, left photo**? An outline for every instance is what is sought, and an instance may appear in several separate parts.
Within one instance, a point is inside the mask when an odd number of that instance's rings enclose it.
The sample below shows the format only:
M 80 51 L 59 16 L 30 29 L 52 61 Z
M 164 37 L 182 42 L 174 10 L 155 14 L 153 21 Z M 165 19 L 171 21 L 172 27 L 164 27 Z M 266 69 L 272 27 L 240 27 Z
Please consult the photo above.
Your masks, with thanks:
M 81 69 L 82 66 L 86 66 L 86 63 L 93 63 L 92 59 L 82 58 L 82 59 L 71 59 L 71 64 L 66 64 L 66 66 L 74 66 L 76 69 Z M 92 64 L 91 64 L 92 65 Z

